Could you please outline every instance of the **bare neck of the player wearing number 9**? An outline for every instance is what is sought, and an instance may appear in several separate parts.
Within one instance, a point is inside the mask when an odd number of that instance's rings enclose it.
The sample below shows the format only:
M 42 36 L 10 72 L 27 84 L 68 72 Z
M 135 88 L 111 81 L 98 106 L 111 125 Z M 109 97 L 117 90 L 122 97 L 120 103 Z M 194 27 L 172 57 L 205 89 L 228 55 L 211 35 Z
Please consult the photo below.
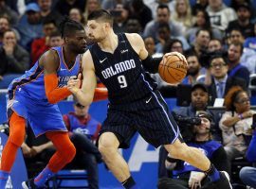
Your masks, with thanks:
M 110 32 L 107 37 L 98 44 L 101 50 L 113 54 L 119 45 L 119 38 L 114 32 Z

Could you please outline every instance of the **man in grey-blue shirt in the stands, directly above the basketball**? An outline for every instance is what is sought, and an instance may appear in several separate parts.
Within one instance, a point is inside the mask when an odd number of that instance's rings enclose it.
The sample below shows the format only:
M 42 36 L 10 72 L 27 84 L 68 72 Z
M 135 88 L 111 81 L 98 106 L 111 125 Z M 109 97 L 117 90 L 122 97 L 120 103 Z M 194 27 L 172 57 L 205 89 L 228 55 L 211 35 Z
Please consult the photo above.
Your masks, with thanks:
M 182 36 L 184 33 L 184 26 L 182 26 L 179 23 L 176 23 L 174 21 L 171 22 L 170 17 L 171 17 L 171 11 L 166 5 L 159 5 L 156 9 L 157 16 L 155 20 L 149 22 L 145 29 L 143 36 L 144 37 L 153 37 L 155 42 L 157 42 L 157 30 L 159 28 L 160 24 L 168 24 L 171 29 L 171 34 L 173 37 L 177 36 Z

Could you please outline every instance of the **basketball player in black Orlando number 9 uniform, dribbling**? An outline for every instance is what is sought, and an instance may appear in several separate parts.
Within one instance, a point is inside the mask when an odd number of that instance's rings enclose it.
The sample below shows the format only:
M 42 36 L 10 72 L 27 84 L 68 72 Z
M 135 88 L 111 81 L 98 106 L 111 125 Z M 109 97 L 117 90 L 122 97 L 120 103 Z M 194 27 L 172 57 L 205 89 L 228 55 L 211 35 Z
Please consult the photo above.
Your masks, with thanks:
M 118 148 L 129 147 L 138 131 L 153 146 L 165 146 L 172 161 L 180 159 L 191 163 L 205 171 L 215 187 L 231 188 L 226 172 L 217 171 L 200 150 L 182 142 L 166 102 L 145 71 L 157 72 L 161 59 L 148 55 L 138 34 L 115 34 L 113 18 L 106 10 L 92 12 L 87 20 L 86 32 L 95 44 L 82 57 L 82 89 L 77 88 L 80 78 L 70 80 L 67 87 L 84 106 L 92 102 L 96 76 L 108 89 L 110 103 L 101 128 L 99 149 L 114 176 L 125 188 L 137 188 Z M 179 53 L 165 56 L 173 55 L 183 56 Z

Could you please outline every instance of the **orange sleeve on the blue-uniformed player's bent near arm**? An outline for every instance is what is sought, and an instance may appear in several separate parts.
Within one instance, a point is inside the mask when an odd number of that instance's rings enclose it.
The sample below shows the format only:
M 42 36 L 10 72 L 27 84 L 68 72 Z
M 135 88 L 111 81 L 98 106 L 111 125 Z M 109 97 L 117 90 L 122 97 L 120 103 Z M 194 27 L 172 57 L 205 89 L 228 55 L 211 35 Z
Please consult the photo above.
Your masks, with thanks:
M 56 104 L 57 102 L 63 100 L 71 92 L 66 88 L 58 88 L 58 77 L 57 74 L 45 75 L 45 89 L 46 97 L 48 102 L 51 104 Z

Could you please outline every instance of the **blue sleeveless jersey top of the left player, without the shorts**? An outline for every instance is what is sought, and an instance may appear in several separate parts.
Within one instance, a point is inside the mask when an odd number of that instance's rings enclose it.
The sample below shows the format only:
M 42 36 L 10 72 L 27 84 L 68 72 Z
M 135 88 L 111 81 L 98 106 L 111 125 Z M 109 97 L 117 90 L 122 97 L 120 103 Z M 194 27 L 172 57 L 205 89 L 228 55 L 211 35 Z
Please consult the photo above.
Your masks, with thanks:
M 56 50 L 60 59 L 60 65 L 57 70 L 57 76 L 59 79 L 58 87 L 62 88 L 67 84 L 69 77 L 78 76 L 81 69 L 81 55 L 78 55 L 73 67 L 68 69 L 64 62 L 63 47 L 53 47 Z M 36 61 L 34 66 L 28 70 L 25 75 L 14 79 L 9 85 L 9 94 L 15 94 L 15 90 L 24 90 L 27 95 L 35 100 L 46 101 L 46 90 L 44 81 L 44 69 L 39 66 L 39 60 Z M 11 99 L 12 96 L 10 95 Z

